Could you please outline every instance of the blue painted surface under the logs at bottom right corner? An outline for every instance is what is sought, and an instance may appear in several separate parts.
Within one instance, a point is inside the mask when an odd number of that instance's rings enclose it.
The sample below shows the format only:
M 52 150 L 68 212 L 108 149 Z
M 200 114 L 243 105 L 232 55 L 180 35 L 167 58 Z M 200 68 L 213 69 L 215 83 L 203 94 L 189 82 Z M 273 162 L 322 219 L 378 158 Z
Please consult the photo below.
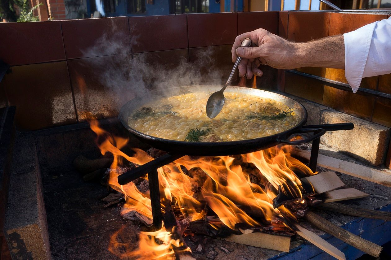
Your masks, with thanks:
M 387 205 L 386 207 L 383 207 L 382 209 L 380 209 L 380 211 L 391 211 L 391 204 Z M 342 228 L 378 245 L 383 245 L 391 241 L 391 221 L 369 218 L 357 218 L 342 226 Z M 364 254 L 362 251 L 359 251 L 353 246 L 350 246 L 327 233 L 322 235 L 321 237 L 339 250 L 341 250 L 345 254 L 346 259 L 348 260 L 356 259 Z M 291 249 L 289 253 L 280 253 L 269 259 L 334 260 L 335 258 L 306 241 L 304 244 L 298 246 L 297 248 Z

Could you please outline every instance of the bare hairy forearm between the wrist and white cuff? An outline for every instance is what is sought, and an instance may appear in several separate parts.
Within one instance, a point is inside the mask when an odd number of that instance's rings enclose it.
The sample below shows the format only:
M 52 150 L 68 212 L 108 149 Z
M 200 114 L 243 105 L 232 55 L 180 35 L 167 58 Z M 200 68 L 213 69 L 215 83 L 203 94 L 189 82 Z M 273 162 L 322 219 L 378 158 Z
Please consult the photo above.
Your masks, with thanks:
M 327 67 L 344 69 L 345 45 L 343 35 L 297 43 L 296 67 Z

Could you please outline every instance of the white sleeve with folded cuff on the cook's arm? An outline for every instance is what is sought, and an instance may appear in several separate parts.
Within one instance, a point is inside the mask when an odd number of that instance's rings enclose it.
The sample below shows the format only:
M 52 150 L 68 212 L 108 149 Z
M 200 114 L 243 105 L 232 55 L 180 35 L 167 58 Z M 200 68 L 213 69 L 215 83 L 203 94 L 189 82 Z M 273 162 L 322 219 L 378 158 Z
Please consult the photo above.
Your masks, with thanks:
M 391 73 L 391 17 L 344 34 L 345 77 L 353 92 L 361 79 Z

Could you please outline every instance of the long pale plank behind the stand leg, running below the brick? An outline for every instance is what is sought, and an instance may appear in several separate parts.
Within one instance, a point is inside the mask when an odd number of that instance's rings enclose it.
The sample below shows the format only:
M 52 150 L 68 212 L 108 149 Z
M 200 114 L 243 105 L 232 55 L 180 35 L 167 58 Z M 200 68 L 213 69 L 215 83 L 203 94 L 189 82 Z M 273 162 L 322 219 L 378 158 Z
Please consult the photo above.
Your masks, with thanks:
M 310 159 L 310 153 L 308 151 L 296 149 L 293 154 L 308 160 Z M 325 156 L 323 154 L 318 155 L 317 165 L 336 172 L 345 173 L 363 180 L 368 180 L 370 182 L 375 182 L 387 187 L 391 187 L 391 174 L 370 168 L 368 166 L 350 163 L 340 159 Z

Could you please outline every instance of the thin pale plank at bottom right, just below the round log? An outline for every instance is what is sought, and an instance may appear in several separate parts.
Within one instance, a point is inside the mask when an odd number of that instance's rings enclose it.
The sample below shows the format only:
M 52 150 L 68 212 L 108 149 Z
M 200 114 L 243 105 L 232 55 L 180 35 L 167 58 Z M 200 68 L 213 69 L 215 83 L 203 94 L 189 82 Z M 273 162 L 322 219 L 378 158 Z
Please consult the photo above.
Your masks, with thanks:
M 303 228 L 298 223 L 292 223 L 291 225 L 293 225 L 296 228 L 295 231 L 298 235 L 300 235 L 304 239 L 307 239 L 312 244 L 314 244 L 318 248 L 322 249 L 323 251 L 325 251 L 329 255 L 334 256 L 335 258 L 337 258 L 339 260 L 346 260 L 344 253 L 339 251 L 337 248 L 332 246 L 330 243 L 325 241 L 323 238 L 316 235 L 314 232 L 312 232 L 306 228 Z

